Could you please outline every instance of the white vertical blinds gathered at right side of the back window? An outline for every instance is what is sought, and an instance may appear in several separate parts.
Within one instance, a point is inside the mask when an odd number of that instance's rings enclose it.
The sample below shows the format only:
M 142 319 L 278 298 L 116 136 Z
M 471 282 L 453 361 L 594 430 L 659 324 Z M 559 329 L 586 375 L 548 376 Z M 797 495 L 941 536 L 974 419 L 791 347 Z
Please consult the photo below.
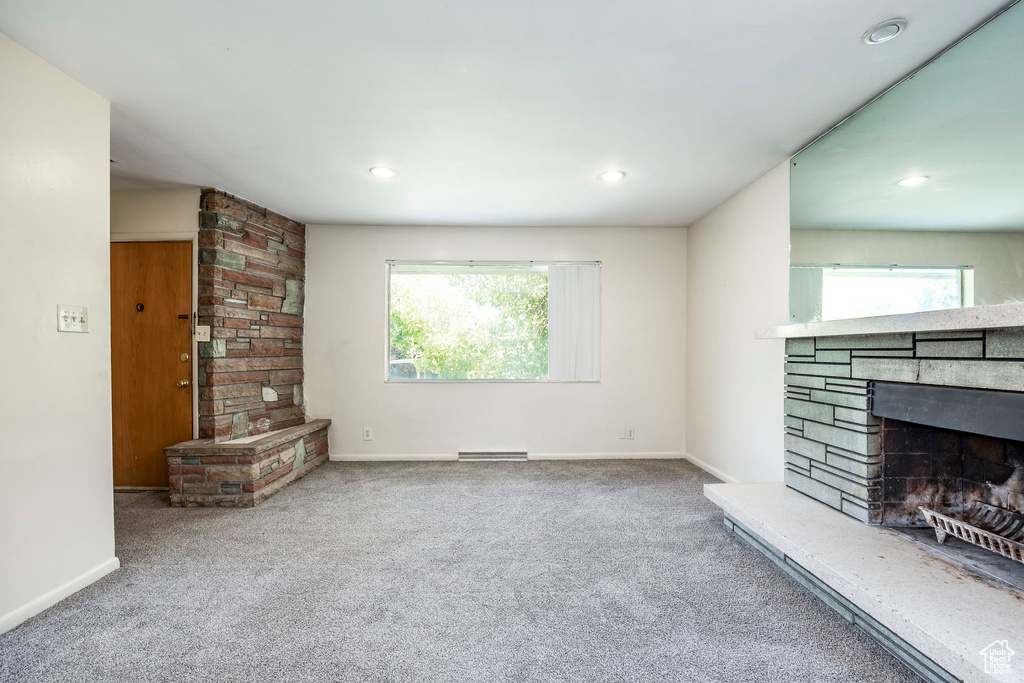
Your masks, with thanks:
M 601 266 L 548 266 L 548 379 L 601 379 Z

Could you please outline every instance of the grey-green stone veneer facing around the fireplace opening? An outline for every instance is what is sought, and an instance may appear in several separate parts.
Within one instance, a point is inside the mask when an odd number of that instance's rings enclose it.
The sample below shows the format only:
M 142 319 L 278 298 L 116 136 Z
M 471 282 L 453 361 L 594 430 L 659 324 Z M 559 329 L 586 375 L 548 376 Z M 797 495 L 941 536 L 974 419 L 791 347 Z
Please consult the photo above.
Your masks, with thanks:
M 871 381 L 1024 388 L 1024 328 L 787 339 L 785 353 L 785 483 L 868 524 L 900 506 Z

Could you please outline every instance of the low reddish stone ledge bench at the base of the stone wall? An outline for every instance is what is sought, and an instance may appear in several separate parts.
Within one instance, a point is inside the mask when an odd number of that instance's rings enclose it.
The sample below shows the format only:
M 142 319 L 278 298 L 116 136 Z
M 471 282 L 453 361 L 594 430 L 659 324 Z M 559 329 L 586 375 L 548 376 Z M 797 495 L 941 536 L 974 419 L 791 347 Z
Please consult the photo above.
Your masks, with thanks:
M 212 438 L 164 449 L 172 507 L 250 508 L 328 459 L 330 420 L 312 420 L 233 441 Z

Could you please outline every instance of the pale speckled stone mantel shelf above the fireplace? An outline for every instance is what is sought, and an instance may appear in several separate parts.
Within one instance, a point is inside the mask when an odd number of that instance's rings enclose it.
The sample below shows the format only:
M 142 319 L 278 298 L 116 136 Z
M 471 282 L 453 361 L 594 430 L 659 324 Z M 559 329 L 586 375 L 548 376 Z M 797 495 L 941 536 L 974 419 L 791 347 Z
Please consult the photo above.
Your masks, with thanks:
M 855 317 L 825 323 L 801 323 L 774 328 L 758 328 L 755 339 L 795 339 L 839 335 L 877 335 L 893 332 L 947 332 L 1024 327 L 1024 303 L 973 306 L 949 310 L 928 310 L 900 315 Z

